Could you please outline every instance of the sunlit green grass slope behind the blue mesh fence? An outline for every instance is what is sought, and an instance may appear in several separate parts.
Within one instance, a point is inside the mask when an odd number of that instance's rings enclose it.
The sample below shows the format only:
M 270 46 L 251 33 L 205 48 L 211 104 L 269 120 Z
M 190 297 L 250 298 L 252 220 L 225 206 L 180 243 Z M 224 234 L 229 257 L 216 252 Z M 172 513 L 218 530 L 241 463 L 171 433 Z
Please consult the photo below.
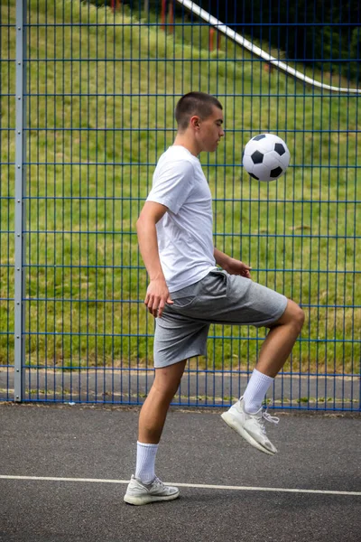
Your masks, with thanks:
M 270 75 L 225 38 L 221 51 L 209 53 L 206 27 L 167 34 L 139 25 L 126 8 L 114 17 L 67 1 L 29 4 L 27 363 L 69 369 L 152 363 L 153 320 L 138 303 L 146 276 L 134 223 L 153 164 L 171 145 L 178 96 L 202 89 L 225 108 L 224 143 L 201 157 L 215 200 L 216 245 L 250 263 L 255 280 L 305 306 L 301 341 L 285 369 L 356 372 L 356 99 L 322 96 L 281 72 Z M 80 21 L 86 24 L 69 25 Z M 44 28 L 44 22 L 57 25 Z M 2 32 L 2 58 L 15 58 L 14 37 L 14 28 Z M 325 73 L 306 74 L 347 86 Z M 14 93 L 14 62 L 2 63 L 1 75 L 2 93 Z M 0 127 L 14 128 L 14 118 L 15 99 L 3 98 Z M 276 128 L 290 148 L 291 167 L 278 182 L 251 182 L 239 165 L 245 142 Z M 14 201 L 7 200 L 14 197 L 14 165 L 5 165 L 14 162 L 14 131 L 0 133 L 6 299 L 14 297 L 14 238 L 6 234 L 14 229 Z M 14 330 L 13 303 L 1 301 L 0 363 L 14 359 L 8 330 Z M 208 360 L 199 367 L 245 369 L 264 331 L 216 326 L 211 335 L 217 339 L 208 341 Z

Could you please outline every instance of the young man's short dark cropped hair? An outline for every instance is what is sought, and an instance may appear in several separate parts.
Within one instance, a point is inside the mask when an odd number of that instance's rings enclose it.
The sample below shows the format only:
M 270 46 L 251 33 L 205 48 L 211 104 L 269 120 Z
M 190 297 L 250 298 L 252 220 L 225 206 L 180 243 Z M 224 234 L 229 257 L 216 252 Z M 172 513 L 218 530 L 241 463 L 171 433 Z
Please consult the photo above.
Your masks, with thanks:
M 212 114 L 212 107 L 223 109 L 217 98 L 206 92 L 189 92 L 180 98 L 175 108 L 175 118 L 179 130 L 185 130 L 190 124 L 190 117 L 198 115 L 201 119 Z

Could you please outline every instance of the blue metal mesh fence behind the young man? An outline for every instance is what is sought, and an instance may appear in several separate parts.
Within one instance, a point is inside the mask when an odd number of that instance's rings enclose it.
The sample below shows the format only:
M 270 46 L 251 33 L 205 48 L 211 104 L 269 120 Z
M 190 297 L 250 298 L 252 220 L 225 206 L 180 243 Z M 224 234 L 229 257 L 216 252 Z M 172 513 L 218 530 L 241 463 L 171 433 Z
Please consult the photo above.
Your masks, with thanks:
M 335 4 L 333 19 L 319 23 L 312 10 L 302 19 L 300 3 L 296 19 L 290 12 L 282 23 L 262 3 L 268 18 L 252 12 L 253 20 L 245 3 L 229 1 L 107 4 L 1 5 L 1 398 L 143 401 L 154 323 L 143 308 L 147 277 L 134 226 L 175 135 L 175 104 L 192 89 L 224 106 L 225 140 L 201 156 L 215 245 L 306 313 L 275 380 L 274 406 L 358 409 L 360 33 L 350 22 L 359 25 L 359 11 L 337 18 Z M 313 39 L 313 58 L 306 43 L 287 50 L 302 32 Z M 15 88 L 23 89 L 22 112 Z M 18 123 L 22 210 L 14 209 Z M 269 184 L 241 166 L 245 143 L 265 132 L 280 135 L 292 155 L 287 173 Z M 14 361 L 16 325 L 22 346 Z M 229 405 L 264 336 L 212 326 L 207 356 L 189 361 L 174 404 Z

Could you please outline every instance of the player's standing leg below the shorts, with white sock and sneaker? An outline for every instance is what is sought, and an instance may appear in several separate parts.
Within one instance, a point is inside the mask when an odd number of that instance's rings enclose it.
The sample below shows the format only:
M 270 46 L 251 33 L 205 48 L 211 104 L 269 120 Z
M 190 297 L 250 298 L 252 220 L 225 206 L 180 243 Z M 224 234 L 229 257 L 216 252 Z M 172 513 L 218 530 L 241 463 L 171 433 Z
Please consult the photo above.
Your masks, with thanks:
M 178 488 L 164 486 L 155 476 L 154 463 L 168 408 L 180 386 L 185 365 L 183 360 L 155 369 L 153 386 L 139 416 L 135 476 L 125 494 L 125 502 L 129 504 L 148 504 L 179 496 Z

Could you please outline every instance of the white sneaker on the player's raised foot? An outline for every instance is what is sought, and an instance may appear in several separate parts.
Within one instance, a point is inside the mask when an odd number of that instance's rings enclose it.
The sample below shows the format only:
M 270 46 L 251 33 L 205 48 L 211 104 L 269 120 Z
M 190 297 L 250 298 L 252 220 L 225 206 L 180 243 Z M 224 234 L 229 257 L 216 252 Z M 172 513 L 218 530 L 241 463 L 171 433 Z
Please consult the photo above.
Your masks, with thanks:
M 232 427 L 238 435 L 243 436 L 247 443 L 255 446 L 260 452 L 269 455 L 277 453 L 277 449 L 265 433 L 264 420 L 277 425 L 280 421 L 278 417 L 269 415 L 266 410 L 263 412 L 262 407 L 255 414 L 247 414 L 243 397 L 235 405 L 232 405 L 227 412 L 224 412 L 221 417 L 229 427 Z

